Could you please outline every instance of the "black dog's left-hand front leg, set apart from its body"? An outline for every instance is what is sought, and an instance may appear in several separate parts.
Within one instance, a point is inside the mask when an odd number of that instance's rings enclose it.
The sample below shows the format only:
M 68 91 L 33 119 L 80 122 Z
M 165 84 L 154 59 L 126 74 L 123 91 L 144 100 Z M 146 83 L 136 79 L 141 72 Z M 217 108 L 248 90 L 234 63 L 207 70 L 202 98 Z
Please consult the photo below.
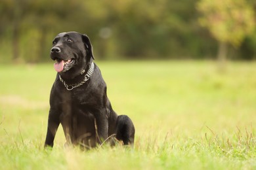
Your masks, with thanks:
M 50 110 L 49 117 L 48 117 L 47 135 L 45 139 L 45 147 L 47 146 L 53 147 L 54 137 L 56 135 L 56 131 L 59 125 L 60 125 L 60 119 L 58 114 L 56 114 L 53 110 Z

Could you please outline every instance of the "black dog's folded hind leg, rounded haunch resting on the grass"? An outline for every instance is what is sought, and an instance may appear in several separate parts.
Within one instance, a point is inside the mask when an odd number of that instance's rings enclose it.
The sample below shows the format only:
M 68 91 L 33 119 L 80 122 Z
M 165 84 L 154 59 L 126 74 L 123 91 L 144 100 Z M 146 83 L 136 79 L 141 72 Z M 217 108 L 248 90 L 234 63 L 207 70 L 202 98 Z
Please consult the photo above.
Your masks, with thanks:
M 116 139 L 123 144 L 133 146 L 135 138 L 135 127 L 131 119 L 126 115 L 119 115 L 116 122 Z

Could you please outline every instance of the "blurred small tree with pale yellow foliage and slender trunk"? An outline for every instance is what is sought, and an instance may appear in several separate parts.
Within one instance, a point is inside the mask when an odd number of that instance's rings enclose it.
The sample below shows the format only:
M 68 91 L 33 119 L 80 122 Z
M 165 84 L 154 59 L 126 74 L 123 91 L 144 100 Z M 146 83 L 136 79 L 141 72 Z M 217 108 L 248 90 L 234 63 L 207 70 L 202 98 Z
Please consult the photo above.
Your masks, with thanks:
M 197 9 L 202 14 L 200 24 L 219 41 L 217 58 L 223 66 L 227 44 L 240 46 L 245 36 L 255 29 L 253 5 L 246 0 L 201 0 Z

